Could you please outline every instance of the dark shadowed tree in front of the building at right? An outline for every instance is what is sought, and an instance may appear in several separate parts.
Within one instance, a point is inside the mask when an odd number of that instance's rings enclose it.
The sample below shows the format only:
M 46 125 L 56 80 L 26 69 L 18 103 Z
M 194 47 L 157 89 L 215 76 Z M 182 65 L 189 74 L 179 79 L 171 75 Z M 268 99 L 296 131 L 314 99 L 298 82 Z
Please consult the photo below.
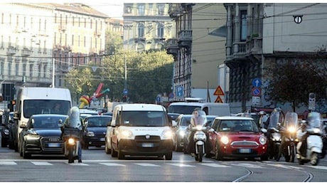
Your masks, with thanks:
M 327 72 L 326 57 L 318 51 L 314 55 L 297 58 L 277 59 L 265 68 L 268 77 L 267 101 L 290 102 L 293 111 L 296 107 L 308 105 L 309 93 L 323 102 L 326 97 Z

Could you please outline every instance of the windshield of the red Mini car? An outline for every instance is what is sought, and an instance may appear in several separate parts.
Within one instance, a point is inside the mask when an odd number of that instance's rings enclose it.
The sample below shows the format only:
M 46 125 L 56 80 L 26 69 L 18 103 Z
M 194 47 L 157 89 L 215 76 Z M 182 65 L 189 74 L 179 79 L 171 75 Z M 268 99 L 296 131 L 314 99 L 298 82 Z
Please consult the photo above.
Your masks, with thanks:
M 259 132 L 253 120 L 221 120 L 220 132 Z

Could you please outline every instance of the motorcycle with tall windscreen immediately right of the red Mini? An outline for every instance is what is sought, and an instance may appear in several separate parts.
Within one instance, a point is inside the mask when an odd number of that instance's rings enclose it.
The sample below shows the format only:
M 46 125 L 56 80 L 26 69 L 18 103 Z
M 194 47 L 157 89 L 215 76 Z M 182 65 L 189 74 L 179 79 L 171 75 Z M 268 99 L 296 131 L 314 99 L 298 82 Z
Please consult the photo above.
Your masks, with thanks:
M 273 111 L 269 117 L 269 125 L 267 125 L 267 138 L 269 159 L 277 159 L 279 147 L 282 142 L 282 134 L 278 129 L 278 122 L 282 122 L 284 117 L 281 112 Z M 268 134 L 269 133 L 269 134 Z

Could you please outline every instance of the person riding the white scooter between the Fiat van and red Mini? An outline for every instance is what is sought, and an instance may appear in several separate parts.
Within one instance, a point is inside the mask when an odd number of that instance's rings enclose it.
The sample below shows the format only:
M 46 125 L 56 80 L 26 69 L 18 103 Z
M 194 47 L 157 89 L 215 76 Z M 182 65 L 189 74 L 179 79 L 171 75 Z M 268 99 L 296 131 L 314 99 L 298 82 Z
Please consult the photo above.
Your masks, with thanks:
M 207 117 L 205 115 L 205 112 L 203 110 L 200 110 L 198 108 L 195 108 L 192 112 L 192 117 L 191 117 L 191 124 L 189 129 L 191 129 L 190 134 L 188 135 L 188 153 L 192 154 L 192 156 L 195 153 L 195 141 L 193 139 L 195 130 L 192 129 L 192 127 L 195 127 L 196 125 L 203 125 L 205 126 L 205 123 L 207 122 Z M 210 151 L 211 151 L 211 144 L 209 141 L 209 134 L 207 130 L 205 131 L 205 136 L 207 137 L 207 141 L 205 142 L 205 153 L 207 156 L 210 156 Z

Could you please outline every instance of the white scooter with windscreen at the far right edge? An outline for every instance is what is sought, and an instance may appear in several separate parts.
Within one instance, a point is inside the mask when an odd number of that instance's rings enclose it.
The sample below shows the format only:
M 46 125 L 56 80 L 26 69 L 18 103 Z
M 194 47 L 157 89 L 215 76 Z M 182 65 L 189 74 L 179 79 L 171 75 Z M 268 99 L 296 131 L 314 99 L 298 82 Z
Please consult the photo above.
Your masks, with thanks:
M 313 166 L 318 165 L 319 159 L 321 158 L 321 153 L 323 149 L 323 139 L 321 139 L 321 115 L 319 112 L 310 112 L 308 118 L 305 122 L 301 124 L 306 124 L 306 129 L 299 129 L 297 137 L 301 139 L 304 134 L 309 134 L 306 138 L 306 157 L 304 157 L 300 152 L 300 147 L 302 142 L 299 142 L 296 146 L 296 158 L 299 160 L 299 164 L 303 165 L 305 162 L 311 162 Z

